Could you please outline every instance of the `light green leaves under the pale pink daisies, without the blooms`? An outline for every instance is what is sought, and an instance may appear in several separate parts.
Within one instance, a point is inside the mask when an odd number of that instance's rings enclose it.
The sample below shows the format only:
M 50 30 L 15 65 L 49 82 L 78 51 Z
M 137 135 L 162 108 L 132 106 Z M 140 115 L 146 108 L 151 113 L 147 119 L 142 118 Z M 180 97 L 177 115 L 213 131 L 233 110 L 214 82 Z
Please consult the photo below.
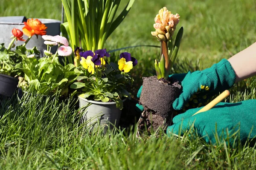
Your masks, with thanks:
M 60 64 L 58 57 L 24 58 L 15 68 L 23 72 L 19 86 L 36 94 L 55 94 L 59 89 L 60 95 L 67 95 L 68 88 L 81 73 L 73 64 L 65 67 Z

